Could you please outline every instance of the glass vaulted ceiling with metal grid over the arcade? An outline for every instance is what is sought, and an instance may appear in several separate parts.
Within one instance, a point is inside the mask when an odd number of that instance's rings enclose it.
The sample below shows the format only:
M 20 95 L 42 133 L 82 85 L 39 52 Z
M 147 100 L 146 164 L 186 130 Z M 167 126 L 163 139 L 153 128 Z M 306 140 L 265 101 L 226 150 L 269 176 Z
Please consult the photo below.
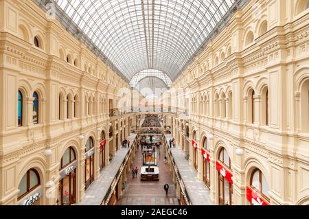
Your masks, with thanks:
M 130 81 L 145 69 L 174 80 L 235 0 L 55 0 Z

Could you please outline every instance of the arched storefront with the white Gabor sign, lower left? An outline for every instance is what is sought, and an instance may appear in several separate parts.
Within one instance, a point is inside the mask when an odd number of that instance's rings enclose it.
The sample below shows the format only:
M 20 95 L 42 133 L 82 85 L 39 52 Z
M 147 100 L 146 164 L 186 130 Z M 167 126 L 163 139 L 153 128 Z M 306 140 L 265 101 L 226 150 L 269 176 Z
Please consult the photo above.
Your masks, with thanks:
M 38 172 L 28 170 L 19 183 L 17 205 L 43 205 L 43 187 Z

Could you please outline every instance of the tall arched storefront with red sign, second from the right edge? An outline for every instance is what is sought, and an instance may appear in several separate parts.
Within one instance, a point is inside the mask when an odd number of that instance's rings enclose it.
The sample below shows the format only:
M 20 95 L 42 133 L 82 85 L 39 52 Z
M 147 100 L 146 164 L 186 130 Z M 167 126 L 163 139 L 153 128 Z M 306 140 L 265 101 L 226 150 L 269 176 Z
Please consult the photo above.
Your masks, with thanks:
M 216 162 L 216 170 L 218 171 L 218 198 L 219 205 L 233 205 L 233 180 L 231 170 L 231 159 L 225 148 L 221 148 L 219 159 Z

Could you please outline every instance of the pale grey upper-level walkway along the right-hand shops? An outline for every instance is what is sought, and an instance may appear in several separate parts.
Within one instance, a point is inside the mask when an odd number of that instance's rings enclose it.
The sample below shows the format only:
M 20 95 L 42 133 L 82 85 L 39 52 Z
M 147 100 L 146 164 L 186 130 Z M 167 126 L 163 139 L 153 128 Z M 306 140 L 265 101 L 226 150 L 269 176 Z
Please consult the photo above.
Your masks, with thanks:
M 169 142 L 172 135 L 165 135 L 165 138 Z M 198 180 L 197 171 L 185 159 L 178 143 L 176 148 L 171 148 L 171 152 L 192 205 L 214 205 L 209 199 L 209 189 L 203 181 Z

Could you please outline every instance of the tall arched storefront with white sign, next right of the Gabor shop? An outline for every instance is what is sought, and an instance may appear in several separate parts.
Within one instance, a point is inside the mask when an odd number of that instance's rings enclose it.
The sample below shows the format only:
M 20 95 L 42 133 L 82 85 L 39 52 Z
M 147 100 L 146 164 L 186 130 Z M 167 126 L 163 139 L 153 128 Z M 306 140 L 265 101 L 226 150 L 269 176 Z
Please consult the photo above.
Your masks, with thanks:
M 59 205 L 71 205 L 76 203 L 76 168 L 78 161 L 73 148 L 65 150 L 60 163 L 59 181 Z

